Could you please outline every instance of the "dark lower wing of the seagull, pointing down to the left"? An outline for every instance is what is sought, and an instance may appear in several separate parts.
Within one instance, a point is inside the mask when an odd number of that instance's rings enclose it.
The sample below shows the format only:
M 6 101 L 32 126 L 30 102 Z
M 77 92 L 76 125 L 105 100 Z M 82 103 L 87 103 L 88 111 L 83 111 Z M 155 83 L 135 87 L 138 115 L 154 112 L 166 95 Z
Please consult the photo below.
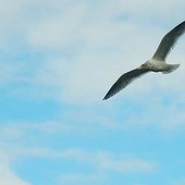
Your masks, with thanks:
M 149 70 L 145 69 L 135 69 L 127 73 L 124 73 L 110 88 L 110 90 L 104 96 L 103 100 L 107 100 L 108 98 L 114 96 L 120 90 L 122 90 L 124 87 L 126 87 L 131 82 L 133 82 L 135 78 L 144 75 L 145 73 L 149 72 Z

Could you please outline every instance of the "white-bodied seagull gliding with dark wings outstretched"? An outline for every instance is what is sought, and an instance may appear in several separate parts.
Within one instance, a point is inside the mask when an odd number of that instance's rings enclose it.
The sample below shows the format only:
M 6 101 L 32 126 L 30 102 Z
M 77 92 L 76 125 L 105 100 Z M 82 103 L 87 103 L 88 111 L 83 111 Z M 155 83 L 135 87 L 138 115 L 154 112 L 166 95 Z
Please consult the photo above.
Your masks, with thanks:
M 132 70 L 127 73 L 124 73 L 110 88 L 110 90 L 104 96 L 103 100 L 109 99 L 110 97 L 118 94 L 120 90 L 125 88 L 134 79 L 143 76 L 148 72 L 161 72 L 164 74 L 171 73 L 176 70 L 180 64 L 168 64 L 165 59 L 170 53 L 171 49 L 174 47 L 177 39 L 185 32 L 185 21 L 175 26 L 170 30 L 161 40 L 158 49 L 156 50 L 153 57 L 147 62 L 143 63 L 135 70 Z

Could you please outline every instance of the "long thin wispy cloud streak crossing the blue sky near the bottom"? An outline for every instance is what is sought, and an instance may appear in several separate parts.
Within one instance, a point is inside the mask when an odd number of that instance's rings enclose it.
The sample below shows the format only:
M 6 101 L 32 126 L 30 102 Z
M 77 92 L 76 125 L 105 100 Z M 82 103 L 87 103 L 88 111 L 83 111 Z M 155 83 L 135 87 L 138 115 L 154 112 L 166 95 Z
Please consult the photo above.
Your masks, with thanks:
M 14 155 L 33 156 L 38 158 L 70 159 L 75 162 L 90 165 L 96 171 L 114 173 L 151 173 L 157 170 L 157 162 L 147 161 L 139 158 L 131 158 L 124 153 L 113 153 L 109 151 L 90 151 L 81 148 L 69 148 L 64 150 L 53 150 L 47 148 L 17 148 Z M 16 155 L 15 155 L 16 156 Z

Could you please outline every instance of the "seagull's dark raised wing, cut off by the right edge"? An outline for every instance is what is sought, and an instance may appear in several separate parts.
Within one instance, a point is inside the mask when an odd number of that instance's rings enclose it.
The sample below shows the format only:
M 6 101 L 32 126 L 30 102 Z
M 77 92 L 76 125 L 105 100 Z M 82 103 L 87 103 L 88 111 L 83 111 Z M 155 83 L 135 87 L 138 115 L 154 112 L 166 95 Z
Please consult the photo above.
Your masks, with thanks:
M 153 59 L 164 61 L 170 50 L 173 48 L 177 39 L 185 32 L 185 22 L 178 24 L 172 30 L 170 30 L 161 40 L 156 53 L 153 54 Z

